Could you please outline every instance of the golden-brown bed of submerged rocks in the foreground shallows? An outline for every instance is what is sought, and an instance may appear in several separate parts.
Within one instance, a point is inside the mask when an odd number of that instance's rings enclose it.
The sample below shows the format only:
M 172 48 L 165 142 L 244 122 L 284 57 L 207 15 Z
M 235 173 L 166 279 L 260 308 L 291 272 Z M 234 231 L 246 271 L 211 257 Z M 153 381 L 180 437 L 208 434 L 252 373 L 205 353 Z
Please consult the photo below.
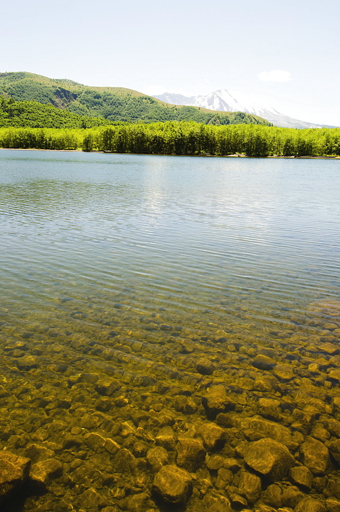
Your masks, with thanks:
M 164 311 L 130 331 L 127 302 L 96 340 L 1 326 L 6 512 L 340 510 L 340 302 L 275 332 Z M 70 329 L 91 320 L 71 303 Z

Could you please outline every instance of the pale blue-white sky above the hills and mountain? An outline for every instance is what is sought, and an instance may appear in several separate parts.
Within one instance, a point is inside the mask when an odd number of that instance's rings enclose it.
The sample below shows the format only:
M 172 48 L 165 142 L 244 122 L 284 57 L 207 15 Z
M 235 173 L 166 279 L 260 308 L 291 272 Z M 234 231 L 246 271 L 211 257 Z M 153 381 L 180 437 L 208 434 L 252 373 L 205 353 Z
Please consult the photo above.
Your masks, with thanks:
M 0 72 L 185 96 L 233 89 L 340 126 L 335 0 L 12 0 Z

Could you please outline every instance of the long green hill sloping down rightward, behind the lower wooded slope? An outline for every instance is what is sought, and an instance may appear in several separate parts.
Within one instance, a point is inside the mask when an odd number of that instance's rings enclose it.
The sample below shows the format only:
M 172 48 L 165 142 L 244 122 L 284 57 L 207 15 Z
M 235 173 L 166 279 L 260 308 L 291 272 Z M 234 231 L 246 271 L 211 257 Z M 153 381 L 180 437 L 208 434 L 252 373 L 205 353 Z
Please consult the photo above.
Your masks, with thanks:
M 110 122 L 185 120 L 217 125 L 252 123 L 271 126 L 265 119 L 243 112 L 216 112 L 194 106 L 171 105 L 132 89 L 88 87 L 68 79 L 52 79 L 26 72 L 0 73 L 0 95 L 19 102 L 53 105 L 79 116 L 100 117 Z

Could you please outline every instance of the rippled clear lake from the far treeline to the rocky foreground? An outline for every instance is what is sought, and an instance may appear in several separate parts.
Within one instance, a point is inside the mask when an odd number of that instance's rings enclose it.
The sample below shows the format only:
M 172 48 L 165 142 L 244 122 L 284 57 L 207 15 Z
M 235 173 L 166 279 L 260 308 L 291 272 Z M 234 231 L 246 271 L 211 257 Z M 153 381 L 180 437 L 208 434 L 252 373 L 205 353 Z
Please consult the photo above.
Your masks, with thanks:
M 2 150 L 0 169 L 1 445 L 33 464 L 7 509 L 330 509 L 338 161 Z M 262 439 L 294 457 L 279 477 L 250 461 Z

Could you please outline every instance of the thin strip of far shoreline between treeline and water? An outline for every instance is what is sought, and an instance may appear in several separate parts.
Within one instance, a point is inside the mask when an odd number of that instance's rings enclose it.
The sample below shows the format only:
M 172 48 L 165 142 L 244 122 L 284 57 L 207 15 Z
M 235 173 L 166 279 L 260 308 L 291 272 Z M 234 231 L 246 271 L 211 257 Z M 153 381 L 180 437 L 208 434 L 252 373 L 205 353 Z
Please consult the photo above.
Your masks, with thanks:
M 164 157 L 216 157 L 216 158 L 298 158 L 298 159 L 322 159 L 322 160 L 340 160 L 340 156 L 336 157 L 317 157 L 317 156 L 253 156 L 253 155 L 191 155 L 191 154 L 165 154 L 165 153 L 119 153 L 118 151 L 82 151 L 82 150 L 44 150 L 44 149 L 35 149 L 34 147 L 24 148 L 24 147 L 0 147 L 1 150 L 6 151 L 51 151 L 54 153 L 107 153 L 112 155 L 147 155 L 147 156 L 164 156 Z

